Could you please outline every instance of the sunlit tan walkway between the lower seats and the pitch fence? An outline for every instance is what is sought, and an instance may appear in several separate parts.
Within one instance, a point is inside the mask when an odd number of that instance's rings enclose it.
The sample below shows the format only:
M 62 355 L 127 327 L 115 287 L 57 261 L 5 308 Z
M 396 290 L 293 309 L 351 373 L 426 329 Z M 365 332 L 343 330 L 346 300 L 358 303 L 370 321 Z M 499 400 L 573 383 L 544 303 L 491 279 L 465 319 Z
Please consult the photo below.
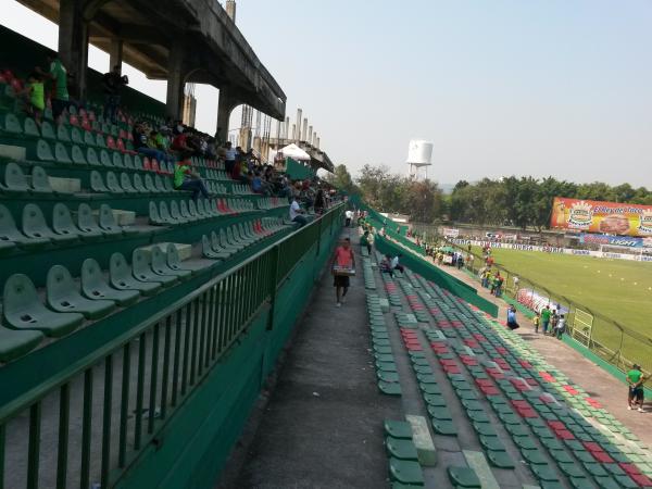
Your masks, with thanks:
M 507 304 L 504 301 L 491 296 L 487 289 L 480 287 L 465 272 L 452 266 L 435 266 L 476 288 L 480 297 L 496 303 L 499 306 L 499 318 L 504 321 L 507 314 Z M 535 334 L 531 321 L 523 314 L 517 312 L 516 316 L 521 325 L 521 328 L 516 329 L 516 333 L 525 341 L 531 343 L 543 355 L 547 362 L 564 372 L 574 383 L 586 389 L 591 398 L 600 401 L 616 419 L 629 428 L 641 441 L 648 446 L 652 446 L 652 429 L 650 429 L 652 419 L 650 417 L 649 403 L 647 413 L 628 411 L 627 387 L 625 384 L 604 372 L 599 365 L 564 342 L 549 336 L 543 336 L 541 333 Z

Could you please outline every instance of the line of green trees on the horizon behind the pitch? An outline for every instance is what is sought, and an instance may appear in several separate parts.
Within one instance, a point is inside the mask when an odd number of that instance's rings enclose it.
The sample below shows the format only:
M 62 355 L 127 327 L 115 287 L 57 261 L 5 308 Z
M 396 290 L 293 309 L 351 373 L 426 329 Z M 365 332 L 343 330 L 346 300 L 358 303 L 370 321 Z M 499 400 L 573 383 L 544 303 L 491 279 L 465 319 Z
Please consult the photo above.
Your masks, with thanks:
M 326 179 L 350 195 L 359 195 L 379 212 L 406 214 L 413 222 L 427 224 L 452 221 L 541 230 L 549 227 L 555 197 L 652 205 L 652 191 L 644 187 L 574 184 L 552 176 L 460 180 L 448 195 L 436 181 L 392 174 L 386 166 L 366 164 L 353 178 L 346 165 L 337 165 Z

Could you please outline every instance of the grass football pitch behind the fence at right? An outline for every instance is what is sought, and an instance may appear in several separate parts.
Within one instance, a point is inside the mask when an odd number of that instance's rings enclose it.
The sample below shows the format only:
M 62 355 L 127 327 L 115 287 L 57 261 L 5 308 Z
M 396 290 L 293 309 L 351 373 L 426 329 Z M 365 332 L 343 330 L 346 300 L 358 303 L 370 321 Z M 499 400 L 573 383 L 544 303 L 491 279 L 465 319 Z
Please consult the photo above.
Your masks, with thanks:
M 481 254 L 479 248 L 474 252 Z M 652 338 L 651 262 L 504 249 L 494 249 L 492 254 L 498 265 L 518 275 L 521 287 L 526 286 L 527 280 L 534 281 L 557 298 L 567 298 L 578 306 L 585 305 L 595 314 Z M 511 278 L 509 286 L 512 287 Z M 561 302 L 565 301 L 561 299 Z M 593 337 L 611 350 L 618 349 L 620 335 L 607 322 L 594 321 Z M 629 338 L 625 339 L 623 349 L 627 353 L 636 351 L 636 358 L 641 352 L 639 342 Z

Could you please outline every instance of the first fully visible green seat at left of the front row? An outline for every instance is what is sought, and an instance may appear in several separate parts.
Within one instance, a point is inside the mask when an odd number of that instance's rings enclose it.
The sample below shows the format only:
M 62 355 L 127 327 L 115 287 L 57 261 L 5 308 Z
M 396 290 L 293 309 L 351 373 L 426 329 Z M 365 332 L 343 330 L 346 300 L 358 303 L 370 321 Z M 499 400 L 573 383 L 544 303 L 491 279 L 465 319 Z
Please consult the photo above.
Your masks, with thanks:
M 7 279 L 2 303 L 4 323 L 10 328 L 34 329 L 46 336 L 62 337 L 84 322 L 82 314 L 60 314 L 48 310 L 39 300 L 29 277 L 23 274 Z

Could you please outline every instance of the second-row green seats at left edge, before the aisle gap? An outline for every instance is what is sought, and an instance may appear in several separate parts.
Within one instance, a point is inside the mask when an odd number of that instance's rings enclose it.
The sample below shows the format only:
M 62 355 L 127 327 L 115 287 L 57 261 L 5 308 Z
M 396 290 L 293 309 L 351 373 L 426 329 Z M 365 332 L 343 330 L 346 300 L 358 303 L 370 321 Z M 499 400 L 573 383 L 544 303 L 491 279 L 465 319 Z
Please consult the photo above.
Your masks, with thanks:
M 0 205 L 0 251 L 16 247 L 34 249 L 51 243 L 60 244 L 79 239 L 96 240 L 139 233 L 117 225 L 109 205 L 100 206 L 99 221 L 96 220 L 92 210 L 86 203 L 79 204 L 75 220 L 65 204 L 61 202 L 54 204 L 51 228 L 40 208 L 28 203 L 23 208 L 21 224 L 18 229 L 9 210 Z

